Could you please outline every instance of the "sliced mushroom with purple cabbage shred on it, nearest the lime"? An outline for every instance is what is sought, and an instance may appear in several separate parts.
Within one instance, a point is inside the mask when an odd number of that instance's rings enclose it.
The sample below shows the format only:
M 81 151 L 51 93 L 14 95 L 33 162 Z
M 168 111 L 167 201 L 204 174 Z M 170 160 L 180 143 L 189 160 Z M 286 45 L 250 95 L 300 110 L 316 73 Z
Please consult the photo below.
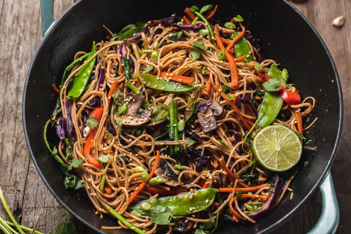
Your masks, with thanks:
M 214 118 L 214 116 L 219 116 L 224 111 L 223 106 L 217 101 L 203 101 L 200 102 L 200 105 L 209 102 L 212 102 L 212 104 L 208 106 L 207 109 L 201 109 L 197 112 L 199 123 L 201 124 L 204 133 L 217 128 L 216 118 Z

